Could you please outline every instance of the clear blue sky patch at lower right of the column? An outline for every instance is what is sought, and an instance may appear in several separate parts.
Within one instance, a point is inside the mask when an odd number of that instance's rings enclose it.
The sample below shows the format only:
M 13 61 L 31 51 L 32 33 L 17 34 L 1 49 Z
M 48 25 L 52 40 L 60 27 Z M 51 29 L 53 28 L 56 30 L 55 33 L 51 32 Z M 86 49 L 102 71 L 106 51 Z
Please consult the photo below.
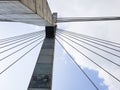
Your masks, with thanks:
M 64 53 L 62 47 L 58 43 L 56 45 L 58 47 L 56 47 L 55 51 L 57 54 L 55 54 L 54 62 L 54 67 L 56 68 L 54 68 L 53 90 L 96 90 L 72 62 L 72 59 Z M 89 68 L 84 68 L 83 70 L 91 77 L 100 90 L 108 90 L 108 87 L 103 84 L 104 80 L 98 77 L 97 71 Z

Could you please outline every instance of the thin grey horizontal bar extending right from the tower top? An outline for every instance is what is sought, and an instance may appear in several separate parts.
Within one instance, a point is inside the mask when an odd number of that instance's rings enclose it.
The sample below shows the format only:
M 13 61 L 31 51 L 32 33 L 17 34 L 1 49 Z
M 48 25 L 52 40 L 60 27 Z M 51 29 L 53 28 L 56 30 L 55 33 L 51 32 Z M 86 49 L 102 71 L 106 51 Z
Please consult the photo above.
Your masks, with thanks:
M 61 17 L 57 18 L 57 23 L 64 22 L 91 22 L 91 21 L 115 21 L 120 20 L 120 17 Z

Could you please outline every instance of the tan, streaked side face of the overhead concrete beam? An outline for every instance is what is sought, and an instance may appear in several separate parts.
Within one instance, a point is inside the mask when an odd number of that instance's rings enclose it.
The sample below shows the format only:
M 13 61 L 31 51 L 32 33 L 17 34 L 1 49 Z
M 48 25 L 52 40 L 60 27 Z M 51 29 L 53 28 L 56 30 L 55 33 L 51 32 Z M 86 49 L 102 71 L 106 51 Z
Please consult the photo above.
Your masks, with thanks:
M 47 0 L 20 0 L 25 6 L 31 9 L 34 13 L 42 17 L 44 20 L 54 25 L 51 10 Z

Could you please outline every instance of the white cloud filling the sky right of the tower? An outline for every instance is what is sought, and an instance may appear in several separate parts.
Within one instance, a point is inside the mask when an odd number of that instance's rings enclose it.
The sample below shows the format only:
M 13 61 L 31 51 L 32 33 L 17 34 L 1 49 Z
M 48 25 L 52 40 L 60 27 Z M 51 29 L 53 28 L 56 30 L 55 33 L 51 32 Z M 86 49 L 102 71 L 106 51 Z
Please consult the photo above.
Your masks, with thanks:
M 50 0 L 49 0 L 50 1 Z M 62 17 L 64 16 L 119 16 L 120 15 L 120 0 L 53 0 L 50 2 L 53 11 L 57 11 Z M 115 41 L 120 43 L 119 21 L 111 22 L 89 22 L 89 23 L 69 23 L 67 25 L 68 31 L 74 31 L 102 39 Z M 64 29 L 64 27 L 62 27 Z M 68 48 L 68 47 L 66 47 Z M 70 50 L 68 48 L 68 50 Z M 73 51 L 70 50 L 72 53 Z M 73 56 L 80 58 L 78 63 L 83 67 L 88 67 L 99 72 L 99 77 L 104 79 L 104 84 L 109 86 L 109 90 L 119 90 L 119 82 L 106 74 L 103 70 L 99 69 L 81 55 Z M 93 56 L 92 56 L 93 57 Z M 104 63 L 104 62 L 103 62 Z M 112 68 L 109 64 L 104 63 L 109 67 L 115 76 L 120 78 L 120 69 Z

